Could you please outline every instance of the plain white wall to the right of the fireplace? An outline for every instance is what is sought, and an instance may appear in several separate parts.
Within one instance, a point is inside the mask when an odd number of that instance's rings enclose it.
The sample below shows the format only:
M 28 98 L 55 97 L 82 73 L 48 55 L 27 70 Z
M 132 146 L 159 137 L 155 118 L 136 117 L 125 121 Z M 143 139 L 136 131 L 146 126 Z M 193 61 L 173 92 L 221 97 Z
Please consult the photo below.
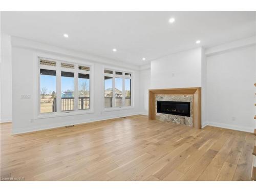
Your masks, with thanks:
M 207 121 L 253 132 L 255 113 L 254 46 L 207 57 Z

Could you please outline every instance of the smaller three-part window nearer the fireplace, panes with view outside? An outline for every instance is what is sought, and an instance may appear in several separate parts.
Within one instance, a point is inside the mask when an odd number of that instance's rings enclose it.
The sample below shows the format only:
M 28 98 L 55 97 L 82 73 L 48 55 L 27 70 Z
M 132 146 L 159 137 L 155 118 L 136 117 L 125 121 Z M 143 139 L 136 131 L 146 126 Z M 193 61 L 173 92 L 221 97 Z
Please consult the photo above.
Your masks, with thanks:
M 104 100 L 105 108 L 132 106 L 132 73 L 105 69 Z

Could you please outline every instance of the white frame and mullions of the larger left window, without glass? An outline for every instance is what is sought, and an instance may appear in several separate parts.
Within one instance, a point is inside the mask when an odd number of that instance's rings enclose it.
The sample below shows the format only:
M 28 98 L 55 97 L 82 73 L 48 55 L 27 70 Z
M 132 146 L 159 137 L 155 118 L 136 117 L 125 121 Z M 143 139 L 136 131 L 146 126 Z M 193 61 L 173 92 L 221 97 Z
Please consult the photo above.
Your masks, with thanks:
M 56 58 L 52 59 L 51 57 L 46 56 L 36 56 L 37 59 L 37 99 L 36 99 L 36 108 L 37 113 L 35 119 L 40 118 L 49 118 L 49 117 L 58 117 L 58 116 L 68 116 L 68 115 L 77 115 L 77 114 L 88 114 L 94 113 L 93 111 L 93 64 L 92 63 L 84 63 L 84 62 L 77 62 L 76 60 L 70 61 L 69 59 L 63 58 Z M 56 62 L 55 66 L 44 66 L 40 65 L 40 59 L 51 60 Z M 68 61 L 69 60 L 69 61 Z M 61 63 L 68 63 L 74 65 L 74 69 L 61 67 Z M 90 67 L 90 71 L 80 70 L 78 66 L 85 66 Z M 40 112 L 40 69 L 48 69 L 56 71 L 56 105 L 57 111 L 56 112 L 49 112 L 49 113 L 41 113 Z M 65 72 L 72 72 L 74 73 L 74 110 L 72 111 L 61 111 L 61 71 Z M 89 74 L 90 75 L 90 83 L 89 83 L 89 100 L 90 100 L 90 109 L 79 110 L 78 109 L 78 74 Z

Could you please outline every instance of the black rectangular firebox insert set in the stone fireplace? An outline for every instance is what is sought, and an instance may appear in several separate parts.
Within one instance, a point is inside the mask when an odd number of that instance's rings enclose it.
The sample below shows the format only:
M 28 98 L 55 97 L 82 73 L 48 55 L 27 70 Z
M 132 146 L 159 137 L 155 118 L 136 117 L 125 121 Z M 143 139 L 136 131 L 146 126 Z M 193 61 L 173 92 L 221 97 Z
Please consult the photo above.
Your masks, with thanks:
M 157 113 L 190 117 L 190 102 L 157 101 Z

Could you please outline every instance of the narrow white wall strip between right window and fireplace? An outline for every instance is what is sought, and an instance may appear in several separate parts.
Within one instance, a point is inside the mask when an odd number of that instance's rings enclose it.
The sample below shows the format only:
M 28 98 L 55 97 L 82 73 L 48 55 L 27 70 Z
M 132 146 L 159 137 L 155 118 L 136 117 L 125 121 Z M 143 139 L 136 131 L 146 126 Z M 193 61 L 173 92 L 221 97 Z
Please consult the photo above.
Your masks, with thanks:
M 148 115 L 148 90 L 151 79 L 150 68 L 140 71 L 140 113 Z

